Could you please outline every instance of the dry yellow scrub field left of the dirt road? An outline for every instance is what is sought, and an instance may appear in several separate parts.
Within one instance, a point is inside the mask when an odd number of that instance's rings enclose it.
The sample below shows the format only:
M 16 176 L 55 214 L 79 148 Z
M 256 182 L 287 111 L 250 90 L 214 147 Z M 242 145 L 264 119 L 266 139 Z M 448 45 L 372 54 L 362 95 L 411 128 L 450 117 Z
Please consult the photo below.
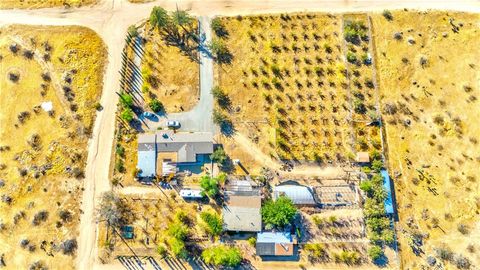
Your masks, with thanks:
M 0 56 L 0 255 L 12 269 L 72 269 L 104 44 L 82 27 L 14 25 Z

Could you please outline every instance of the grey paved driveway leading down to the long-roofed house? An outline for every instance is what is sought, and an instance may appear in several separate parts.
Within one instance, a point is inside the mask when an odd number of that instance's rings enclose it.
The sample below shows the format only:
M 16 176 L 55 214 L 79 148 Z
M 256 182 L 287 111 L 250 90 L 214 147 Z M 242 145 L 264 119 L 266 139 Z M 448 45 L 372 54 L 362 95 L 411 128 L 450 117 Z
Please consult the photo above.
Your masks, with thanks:
M 183 131 L 215 131 L 215 125 L 212 122 L 213 95 L 213 59 L 207 50 L 207 44 L 212 40 L 210 28 L 210 18 L 201 16 L 200 37 L 203 41 L 200 46 L 200 101 L 188 112 L 171 113 L 160 117 L 159 121 L 149 121 L 143 119 L 150 130 L 156 130 L 159 127 L 166 127 L 168 120 L 177 120 L 181 124 L 180 130 Z

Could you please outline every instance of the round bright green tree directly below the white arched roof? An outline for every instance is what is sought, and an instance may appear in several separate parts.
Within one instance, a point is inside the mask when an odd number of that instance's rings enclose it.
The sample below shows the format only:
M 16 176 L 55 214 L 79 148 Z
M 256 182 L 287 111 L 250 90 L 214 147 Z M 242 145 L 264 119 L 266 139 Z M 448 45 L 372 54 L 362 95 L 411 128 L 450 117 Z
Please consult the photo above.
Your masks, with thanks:
M 293 221 L 297 209 L 290 198 L 281 196 L 276 201 L 269 200 L 262 206 L 263 222 L 270 226 L 284 227 Z

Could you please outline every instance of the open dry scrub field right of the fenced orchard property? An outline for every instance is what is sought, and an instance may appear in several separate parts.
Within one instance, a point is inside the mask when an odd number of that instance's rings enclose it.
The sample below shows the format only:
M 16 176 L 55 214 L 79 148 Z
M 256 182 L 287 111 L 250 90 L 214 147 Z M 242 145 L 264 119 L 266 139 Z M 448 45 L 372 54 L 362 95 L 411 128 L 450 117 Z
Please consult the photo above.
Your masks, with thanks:
M 480 15 L 392 17 L 372 16 L 403 268 L 436 256 L 448 269 L 477 269 Z

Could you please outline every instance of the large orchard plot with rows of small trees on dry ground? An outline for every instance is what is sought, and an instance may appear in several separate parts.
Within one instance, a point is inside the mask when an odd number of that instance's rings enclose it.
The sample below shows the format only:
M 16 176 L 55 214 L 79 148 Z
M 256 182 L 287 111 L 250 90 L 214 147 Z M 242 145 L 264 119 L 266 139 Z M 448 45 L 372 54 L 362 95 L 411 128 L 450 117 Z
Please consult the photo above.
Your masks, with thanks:
M 237 132 L 275 159 L 343 163 L 351 125 L 341 17 L 220 18 L 233 55 L 217 66 Z M 266 31 L 268 30 L 268 31 Z

